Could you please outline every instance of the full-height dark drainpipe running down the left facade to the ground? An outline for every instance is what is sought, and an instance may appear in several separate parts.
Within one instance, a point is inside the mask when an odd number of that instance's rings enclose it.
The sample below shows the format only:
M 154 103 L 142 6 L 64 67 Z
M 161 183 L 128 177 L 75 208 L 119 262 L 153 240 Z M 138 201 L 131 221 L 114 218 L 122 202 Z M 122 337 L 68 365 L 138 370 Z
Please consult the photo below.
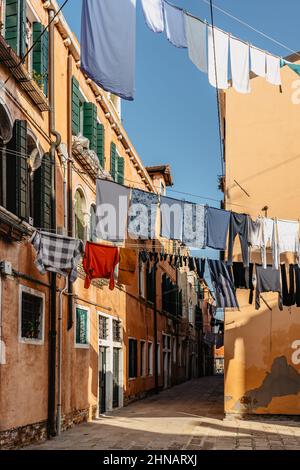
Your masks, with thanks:
M 61 143 L 61 136 L 55 130 L 55 89 L 54 89 L 54 21 L 55 12 L 49 10 L 49 133 L 54 136 L 55 140 L 51 142 L 50 158 L 53 165 L 52 171 L 52 188 L 51 188 L 51 225 L 56 230 L 56 150 Z M 49 395 L 48 395 L 48 435 L 49 437 L 56 435 L 55 422 L 55 392 L 56 392 L 56 274 L 51 274 L 51 309 L 50 309 L 50 331 L 49 331 Z

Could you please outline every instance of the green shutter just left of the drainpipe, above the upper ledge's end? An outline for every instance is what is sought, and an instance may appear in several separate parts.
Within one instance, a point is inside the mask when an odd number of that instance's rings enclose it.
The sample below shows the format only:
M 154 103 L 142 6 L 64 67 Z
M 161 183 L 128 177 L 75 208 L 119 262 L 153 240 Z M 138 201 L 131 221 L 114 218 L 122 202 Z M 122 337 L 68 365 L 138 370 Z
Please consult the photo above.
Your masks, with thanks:
M 38 83 L 42 83 L 43 91 L 45 95 L 48 93 L 48 51 L 49 51 L 49 34 L 48 31 L 43 33 L 43 36 L 40 37 L 41 33 L 44 31 L 45 27 L 41 23 L 33 23 L 33 42 L 36 44 L 33 48 L 32 53 L 32 67 L 33 71 L 40 75 L 41 78 L 38 79 Z

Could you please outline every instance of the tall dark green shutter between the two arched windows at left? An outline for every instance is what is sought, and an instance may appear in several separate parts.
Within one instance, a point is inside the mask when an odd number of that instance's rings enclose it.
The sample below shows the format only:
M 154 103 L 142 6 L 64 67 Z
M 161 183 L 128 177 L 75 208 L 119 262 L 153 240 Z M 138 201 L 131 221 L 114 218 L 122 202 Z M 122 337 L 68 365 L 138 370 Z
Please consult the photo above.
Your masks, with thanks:
M 7 208 L 20 219 L 28 219 L 26 121 L 15 121 L 13 137 L 7 144 L 7 150 L 7 181 L 9 181 Z

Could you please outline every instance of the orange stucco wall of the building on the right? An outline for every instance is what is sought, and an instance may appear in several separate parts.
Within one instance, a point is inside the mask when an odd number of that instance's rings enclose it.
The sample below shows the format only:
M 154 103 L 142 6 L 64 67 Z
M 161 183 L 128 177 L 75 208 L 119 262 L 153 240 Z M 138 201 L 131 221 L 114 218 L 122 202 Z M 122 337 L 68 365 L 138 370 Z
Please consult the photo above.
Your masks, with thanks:
M 226 92 L 226 209 L 298 220 L 300 105 L 297 75 L 282 69 L 282 93 L 262 78 L 252 92 Z M 296 87 L 296 88 L 295 88 Z M 250 195 L 248 197 L 234 182 Z M 269 255 L 270 256 L 270 255 Z M 235 260 L 241 260 L 236 241 Z M 257 253 L 252 261 L 260 262 Z M 269 258 L 271 262 L 271 258 Z M 295 262 L 281 255 L 281 262 Z M 263 294 L 260 310 L 238 291 L 240 311 L 225 313 L 225 410 L 227 413 L 300 413 L 300 310 L 277 306 L 277 294 Z M 271 310 L 270 310 L 271 309 Z

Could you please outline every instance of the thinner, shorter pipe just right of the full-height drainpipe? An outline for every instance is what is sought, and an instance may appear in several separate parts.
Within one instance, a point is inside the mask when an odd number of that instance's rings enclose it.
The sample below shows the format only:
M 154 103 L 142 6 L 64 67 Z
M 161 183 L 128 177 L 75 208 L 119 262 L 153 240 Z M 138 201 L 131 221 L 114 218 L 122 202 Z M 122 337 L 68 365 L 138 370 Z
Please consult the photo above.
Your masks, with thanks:
M 68 206 L 68 235 L 73 236 L 73 196 L 72 196 L 72 56 L 68 56 L 68 70 L 67 70 L 67 96 L 68 96 L 68 166 L 67 166 L 67 206 Z M 73 292 L 73 284 L 69 281 L 68 292 Z M 68 330 L 73 326 L 73 297 L 70 295 L 68 299 Z

